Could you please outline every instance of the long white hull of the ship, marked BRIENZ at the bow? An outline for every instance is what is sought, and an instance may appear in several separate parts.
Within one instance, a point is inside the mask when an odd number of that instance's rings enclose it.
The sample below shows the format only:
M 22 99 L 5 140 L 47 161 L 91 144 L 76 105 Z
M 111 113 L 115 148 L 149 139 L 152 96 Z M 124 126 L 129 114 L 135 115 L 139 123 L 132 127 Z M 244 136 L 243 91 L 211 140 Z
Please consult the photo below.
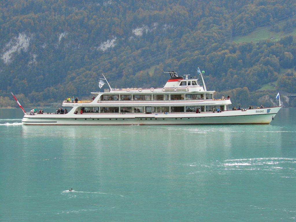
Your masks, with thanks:
M 198 125 L 269 124 L 281 107 L 203 113 L 35 114 L 25 115 L 24 125 Z

